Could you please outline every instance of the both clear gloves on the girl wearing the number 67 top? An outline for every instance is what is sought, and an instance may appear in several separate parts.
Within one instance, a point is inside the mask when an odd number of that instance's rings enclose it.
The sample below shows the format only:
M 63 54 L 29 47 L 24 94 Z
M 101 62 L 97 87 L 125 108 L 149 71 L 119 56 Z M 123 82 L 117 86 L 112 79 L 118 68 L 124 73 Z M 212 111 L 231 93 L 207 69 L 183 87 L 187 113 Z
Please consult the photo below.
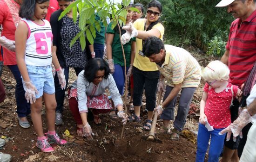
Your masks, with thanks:
M 65 89 L 66 87 L 66 79 L 64 75 L 64 69 L 60 69 L 57 71 L 57 75 L 60 81 L 61 89 Z M 35 102 L 35 93 L 38 93 L 36 87 L 32 83 L 32 81 L 22 81 L 23 88 L 25 90 L 25 98 L 27 103 L 30 102 L 31 104 Z

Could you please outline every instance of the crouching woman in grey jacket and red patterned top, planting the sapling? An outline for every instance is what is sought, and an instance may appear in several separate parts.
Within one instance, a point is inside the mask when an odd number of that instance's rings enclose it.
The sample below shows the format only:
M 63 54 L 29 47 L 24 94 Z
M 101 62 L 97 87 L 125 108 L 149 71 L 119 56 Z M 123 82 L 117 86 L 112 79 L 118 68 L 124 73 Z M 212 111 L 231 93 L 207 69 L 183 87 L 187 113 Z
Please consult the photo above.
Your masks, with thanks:
M 91 138 L 92 130 L 87 122 L 88 107 L 94 115 L 96 125 L 101 124 L 100 113 L 107 113 L 113 109 L 108 96 L 104 93 L 106 88 L 118 110 L 117 116 L 126 124 L 128 116 L 123 111 L 121 95 L 113 76 L 110 75 L 108 63 L 102 58 L 94 58 L 88 62 L 68 91 L 69 107 L 77 123 L 79 136 Z

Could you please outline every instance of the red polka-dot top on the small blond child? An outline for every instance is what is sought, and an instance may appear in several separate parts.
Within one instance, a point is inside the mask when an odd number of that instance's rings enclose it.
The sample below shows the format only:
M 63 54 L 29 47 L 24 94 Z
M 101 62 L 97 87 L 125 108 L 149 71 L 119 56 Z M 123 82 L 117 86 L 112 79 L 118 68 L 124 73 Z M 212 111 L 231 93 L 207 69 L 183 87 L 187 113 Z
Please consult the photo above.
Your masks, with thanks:
M 226 89 L 220 93 L 216 93 L 214 88 L 210 88 L 209 84 L 205 83 L 204 92 L 208 93 L 206 105 L 204 107 L 204 114 L 211 126 L 215 129 L 226 128 L 231 124 L 229 106 L 232 100 L 231 83 Z M 238 87 L 233 85 L 233 98 L 236 97 Z

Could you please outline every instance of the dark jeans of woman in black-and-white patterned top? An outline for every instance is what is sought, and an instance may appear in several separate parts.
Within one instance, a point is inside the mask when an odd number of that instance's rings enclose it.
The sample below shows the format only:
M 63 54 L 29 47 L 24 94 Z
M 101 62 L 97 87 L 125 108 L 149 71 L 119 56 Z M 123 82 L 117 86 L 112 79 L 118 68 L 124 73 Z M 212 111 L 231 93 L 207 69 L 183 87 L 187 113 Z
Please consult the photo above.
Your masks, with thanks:
M 69 72 L 69 67 L 64 68 L 64 75 L 66 79 L 66 83 L 68 83 L 68 72 Z M 79 73 L 83 70 L 84 68 L 74 68 L 76 76 L 79 75 Z M 61 89 L 60 81 L 58 78 L 58 75 L 54 76 L 54 86 L 55 86 L 55 99 L 57 102 L 57 107 L 56 107 L 56 112 L 63 112 L 63 103 L 64 103 L 64 97 L 65 97 L 65 91 L 67 89 L 67 84 L 65 89 Z

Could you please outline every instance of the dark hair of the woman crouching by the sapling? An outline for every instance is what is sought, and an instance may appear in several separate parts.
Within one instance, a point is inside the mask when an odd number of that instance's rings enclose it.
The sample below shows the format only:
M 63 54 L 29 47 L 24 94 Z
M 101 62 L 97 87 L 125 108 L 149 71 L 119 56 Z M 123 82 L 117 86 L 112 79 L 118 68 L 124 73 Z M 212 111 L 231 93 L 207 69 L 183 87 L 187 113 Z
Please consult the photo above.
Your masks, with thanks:
M 88 61 L 84 68 L 84 77 L 87 79 L 87 81 L 92 82 L 98 70 L 105 70 L 104 78 L 108 78 L 108 75 L 110 74 L 108 63 L 103 60 L 103 58 L 92 58 Z

